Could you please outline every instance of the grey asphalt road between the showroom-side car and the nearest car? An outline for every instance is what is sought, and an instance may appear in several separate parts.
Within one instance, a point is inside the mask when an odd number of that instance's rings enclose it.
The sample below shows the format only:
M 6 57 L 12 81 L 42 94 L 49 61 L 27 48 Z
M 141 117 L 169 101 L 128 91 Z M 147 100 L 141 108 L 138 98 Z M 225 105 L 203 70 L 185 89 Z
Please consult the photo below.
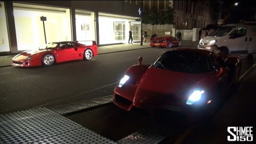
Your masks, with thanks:
M 122 74 L 138 63 L 139 56 L 143 56 L 143 63 L 153 63 L 165 51 L 168 49 L 147 48 L 51 67 L 0 68 L 0 113 L 108 96 Z

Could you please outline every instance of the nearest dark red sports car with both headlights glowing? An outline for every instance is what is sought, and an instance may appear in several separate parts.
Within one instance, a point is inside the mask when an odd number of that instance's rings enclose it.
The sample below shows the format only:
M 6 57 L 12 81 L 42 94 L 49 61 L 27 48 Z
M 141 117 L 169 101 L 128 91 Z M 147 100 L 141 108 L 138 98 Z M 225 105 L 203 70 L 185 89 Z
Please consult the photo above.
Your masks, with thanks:
M 113 102 L 124 110 L 165 109 L 192 118 L 215 113 L 220 100 L 238 81 L 238 57 L 216 61 L 207 50 L 179 48 L 167 51 L 152 65 L 131 66 L 114 90 Z M 219 57 L 220 58 L 220 57 Z M 191 117 L 190 117 L 191 118 Z

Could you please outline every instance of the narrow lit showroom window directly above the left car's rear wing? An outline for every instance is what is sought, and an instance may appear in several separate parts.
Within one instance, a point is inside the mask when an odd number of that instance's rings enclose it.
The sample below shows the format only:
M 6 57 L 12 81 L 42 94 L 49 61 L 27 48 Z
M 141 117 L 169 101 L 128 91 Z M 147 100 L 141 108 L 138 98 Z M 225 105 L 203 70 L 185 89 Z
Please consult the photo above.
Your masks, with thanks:
M 86 44 L 87 41 L 95 41 L 94 12 L 75 10 L 77 41 Z

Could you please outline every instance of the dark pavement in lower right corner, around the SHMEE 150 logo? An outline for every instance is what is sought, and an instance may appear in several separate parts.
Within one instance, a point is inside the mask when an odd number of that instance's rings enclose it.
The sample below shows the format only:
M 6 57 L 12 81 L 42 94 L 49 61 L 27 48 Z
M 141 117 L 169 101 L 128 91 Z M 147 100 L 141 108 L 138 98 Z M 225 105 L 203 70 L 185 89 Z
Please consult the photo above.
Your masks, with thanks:
M 235 142 L 227 140 L 227 136 L 231 136 L 227 132 L 228 126 L 253 126 L 252 134 L 255 136 L 255 85 L 256 69 L 254 68 L 215 118 L 207 125 L 197 126 L 181 144 L 234 144 Z M 233 139 L 232 136 L 231 138 Z M 253 141 L 255 143 L 255 138 Z

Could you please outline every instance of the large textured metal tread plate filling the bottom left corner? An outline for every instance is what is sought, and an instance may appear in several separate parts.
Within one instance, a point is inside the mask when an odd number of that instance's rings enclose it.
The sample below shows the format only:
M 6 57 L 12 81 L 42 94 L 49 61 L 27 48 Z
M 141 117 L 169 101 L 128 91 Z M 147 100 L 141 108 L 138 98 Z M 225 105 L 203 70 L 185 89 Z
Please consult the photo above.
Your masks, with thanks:
M 46 108 L 0 115 L 0 143 L 115 144 Z

